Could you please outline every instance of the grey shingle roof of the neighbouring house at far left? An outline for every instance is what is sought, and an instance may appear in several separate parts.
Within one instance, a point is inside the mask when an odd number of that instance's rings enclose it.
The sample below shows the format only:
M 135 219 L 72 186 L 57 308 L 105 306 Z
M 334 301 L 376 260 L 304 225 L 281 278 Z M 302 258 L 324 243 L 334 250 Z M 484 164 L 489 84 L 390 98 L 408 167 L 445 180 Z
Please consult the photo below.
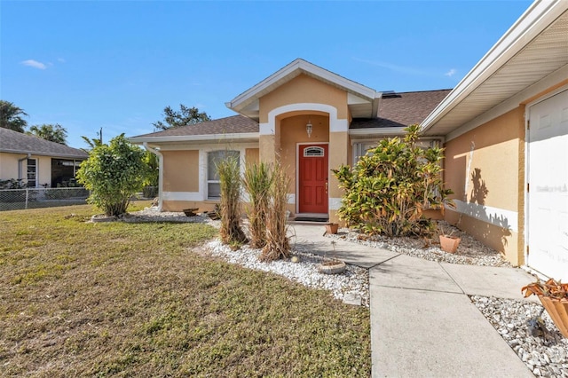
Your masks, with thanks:
M 59 145 L 59 143 L 4 128 L 0 128 L 0 152 L 75 159 L 86 159 L 89 156 L 78 148 Z

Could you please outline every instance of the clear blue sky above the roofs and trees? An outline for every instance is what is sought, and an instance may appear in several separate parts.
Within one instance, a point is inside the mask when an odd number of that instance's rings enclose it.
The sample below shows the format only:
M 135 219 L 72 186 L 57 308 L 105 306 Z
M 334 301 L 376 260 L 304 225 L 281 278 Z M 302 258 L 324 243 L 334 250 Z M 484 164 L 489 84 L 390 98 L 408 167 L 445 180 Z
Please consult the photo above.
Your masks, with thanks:
M 165 106 L 225 102 L 296 58 L 376 91 L 453 88 L 530 1 L 0 2 L 0 98 L 67 144 L 154 131 Z

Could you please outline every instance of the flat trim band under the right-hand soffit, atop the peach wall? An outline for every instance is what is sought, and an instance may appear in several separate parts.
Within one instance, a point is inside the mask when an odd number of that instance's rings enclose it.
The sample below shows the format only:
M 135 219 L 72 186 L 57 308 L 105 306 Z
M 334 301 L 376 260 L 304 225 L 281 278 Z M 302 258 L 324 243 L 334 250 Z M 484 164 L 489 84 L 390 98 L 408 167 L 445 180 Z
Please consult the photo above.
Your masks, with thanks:
M 462 134 L 475 129 L 482 124 L 499 117 L 502 114 L 510 112 L 511 110 L 517 108 L 519 105 L 523 104 L 527 98 L 532 98 L 543 91 L 547 91 L 548 88 L 551 88 L 557 83 L 566 80 L 566 77 L 568 77 L 568 65 L 557 69 L 554 73 L 548 75 L 539 82 L 534 83 L 530 87 L 527 87 L 524 91 L 518 92 L 515 96 L 501 102 L 501 104 L 499 104 L 498 106 L 495 106 L 484 114 L 480 114 L 473 120 L 464 123 L 458 129 L 449 132 L 446 135 L 446 140 L 458 138 Z

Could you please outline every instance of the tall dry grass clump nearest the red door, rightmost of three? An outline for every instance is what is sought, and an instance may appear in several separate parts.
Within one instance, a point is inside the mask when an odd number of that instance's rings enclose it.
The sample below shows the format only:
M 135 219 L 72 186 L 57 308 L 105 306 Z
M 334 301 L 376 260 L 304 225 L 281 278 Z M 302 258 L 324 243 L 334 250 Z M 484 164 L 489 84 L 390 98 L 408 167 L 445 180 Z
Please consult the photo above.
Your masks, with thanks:
M 290 177 L 280 161 L 272 166 L 271 176 L 270 211 L 266 217 L 266 244 L 260 256 L 263 261 L 273 261 L 290 256 L 290 243 L 286 236 L 288 231 L 286 205 L 288 204 Z

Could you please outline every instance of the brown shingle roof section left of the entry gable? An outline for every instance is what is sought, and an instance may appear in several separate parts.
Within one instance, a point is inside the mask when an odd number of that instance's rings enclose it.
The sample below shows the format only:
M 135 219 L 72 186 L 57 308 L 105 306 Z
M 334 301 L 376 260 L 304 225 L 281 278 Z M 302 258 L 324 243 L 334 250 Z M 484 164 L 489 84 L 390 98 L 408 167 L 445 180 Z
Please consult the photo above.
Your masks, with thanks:
M 200 122 L 173 129 L 138 135 L 134 138 L 148 137 L 175 137 L 187 135 L 210 135 L 210 134 L 241 134 L 245 132 L 258 132 L 258 122 L 243 115 L 233 115 L 218 120 Z

